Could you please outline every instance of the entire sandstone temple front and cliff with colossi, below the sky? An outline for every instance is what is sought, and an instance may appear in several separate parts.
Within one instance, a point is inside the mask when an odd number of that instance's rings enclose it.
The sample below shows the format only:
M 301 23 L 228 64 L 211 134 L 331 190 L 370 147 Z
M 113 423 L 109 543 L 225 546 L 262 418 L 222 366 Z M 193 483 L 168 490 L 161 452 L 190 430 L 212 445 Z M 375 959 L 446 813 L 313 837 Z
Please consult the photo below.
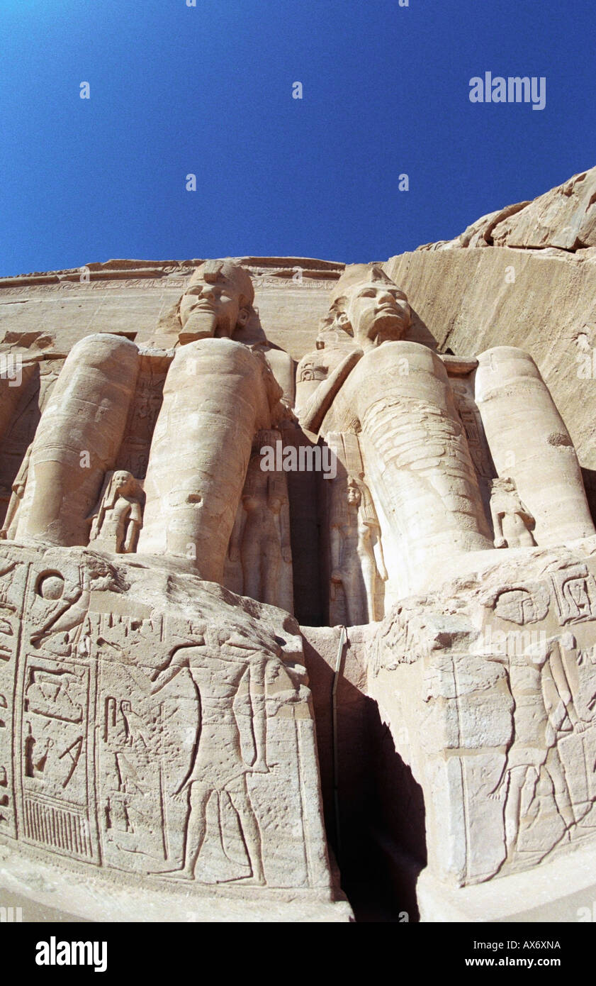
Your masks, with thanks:
M 0 281 L 25 906 L 33 870 L 92 920 L 591 902 L 593 180 L 383 264 Z

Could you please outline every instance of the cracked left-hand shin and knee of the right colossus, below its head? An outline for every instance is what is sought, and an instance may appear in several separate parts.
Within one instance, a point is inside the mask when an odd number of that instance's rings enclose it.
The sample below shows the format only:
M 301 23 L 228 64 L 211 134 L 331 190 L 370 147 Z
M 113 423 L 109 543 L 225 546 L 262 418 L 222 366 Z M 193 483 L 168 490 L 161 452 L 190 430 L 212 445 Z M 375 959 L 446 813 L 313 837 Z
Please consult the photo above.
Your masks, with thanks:
M 410 591 L 424 588 L 451 555 L 493 547 L 466 436 L 435 353 L 416 342 L 384 342 L 364 355 L 338 400 L 345 425 L 362 429 L 372 496 L 395 535 L 400 557 L 386 559 L 387 568 L 400 568 L 402 579 L 406 568 Z

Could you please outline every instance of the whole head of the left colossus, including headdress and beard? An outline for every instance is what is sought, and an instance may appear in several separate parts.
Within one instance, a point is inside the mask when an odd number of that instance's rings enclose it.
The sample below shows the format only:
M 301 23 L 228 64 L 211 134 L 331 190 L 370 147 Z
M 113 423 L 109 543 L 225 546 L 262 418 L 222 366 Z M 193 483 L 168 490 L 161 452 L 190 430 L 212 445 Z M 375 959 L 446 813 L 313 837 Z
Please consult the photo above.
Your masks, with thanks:
M 232 338 L 252 314 L 250 275 L 232 260 L 206 260 L 197 267 L 180 301 L 180 341 Z

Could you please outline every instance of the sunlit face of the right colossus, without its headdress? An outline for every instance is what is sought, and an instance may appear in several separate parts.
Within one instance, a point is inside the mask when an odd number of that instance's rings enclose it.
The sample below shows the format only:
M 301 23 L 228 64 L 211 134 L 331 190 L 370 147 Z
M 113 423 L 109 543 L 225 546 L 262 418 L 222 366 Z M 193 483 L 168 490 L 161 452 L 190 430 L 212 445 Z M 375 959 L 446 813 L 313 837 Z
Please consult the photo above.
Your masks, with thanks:
M 355 339 L 364 348 L 387 339 L 400 339 L 410 322 L 403 291 L 379 281 L 357 284 L 348 292 L 346 314 Z

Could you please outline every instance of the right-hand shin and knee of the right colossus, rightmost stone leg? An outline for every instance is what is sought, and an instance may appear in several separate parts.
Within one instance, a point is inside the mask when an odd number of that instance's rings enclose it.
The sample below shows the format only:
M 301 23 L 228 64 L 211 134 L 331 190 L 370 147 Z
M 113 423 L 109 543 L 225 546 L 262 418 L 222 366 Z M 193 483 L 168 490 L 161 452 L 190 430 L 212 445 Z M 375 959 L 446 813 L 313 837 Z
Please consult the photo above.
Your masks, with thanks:
M 537 544 L 595 532 L 563 418 L 534 360 L 514 346 L 478 357 L 476 402 L 499 476 L 515 480 Z

